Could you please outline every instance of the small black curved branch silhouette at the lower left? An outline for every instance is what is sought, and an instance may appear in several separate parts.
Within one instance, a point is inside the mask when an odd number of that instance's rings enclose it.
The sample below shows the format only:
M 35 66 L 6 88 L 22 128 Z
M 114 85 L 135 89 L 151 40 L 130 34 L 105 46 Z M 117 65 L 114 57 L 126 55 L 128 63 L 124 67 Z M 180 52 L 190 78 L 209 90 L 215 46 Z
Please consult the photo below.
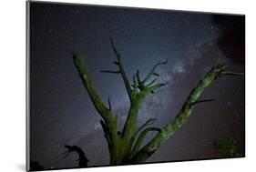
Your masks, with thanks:
M 79 161 L 79 167 L 87 167 L 87 163 L 89 162 L 89 160 L 87 159 L 84 151 L 80 147 L 68 145 L 65 145 L 64 147 L 67 148 L 67 152 L 63 154 L 64 157 L 62 157 L 62 159 L 66 158 L 70 153 L 75 152 L 79 157 L 77 159 L 77 161 Z

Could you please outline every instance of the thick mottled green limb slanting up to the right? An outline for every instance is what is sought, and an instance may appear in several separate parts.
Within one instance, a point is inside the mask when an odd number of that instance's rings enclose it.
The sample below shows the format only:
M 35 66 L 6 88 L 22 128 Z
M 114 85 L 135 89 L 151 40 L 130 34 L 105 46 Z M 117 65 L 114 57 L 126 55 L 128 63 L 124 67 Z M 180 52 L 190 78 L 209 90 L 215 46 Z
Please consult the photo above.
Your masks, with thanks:
M 220 76 L 223 76 L 225 74 L 226 66 L 222 63 L 218 64 L 217 66 L 214 66 L 210 69 L 210 72 L 204 76 L 198 86 L 196 86 L 191 93 L 189 94 L 189 97 L 187 98 L 187 101 L 183 104 L 181 110 L 179 111 L 179 114 L 175 117 L 174 120 L 170 121 L 166 126 L 164 126 L 159 134 L 154 137 L 152 140 L 148 142 L 148 144 L 145 147 L 142 147 L 138 153 L 130 159 L 131 163 L 139 163 L 142 161 L 145 161 L 150 157 L 152 154 L 155 153 L 155 151 L 169 138 L 171 137 L 174 132 L 182 126 L 188 119 L 188 117 L 191 114 L 191 110 L 193 106 L 199 103 L 198 99 L 200 98 L 200 95 L 204 91 L 204 89 L 217 78 Z

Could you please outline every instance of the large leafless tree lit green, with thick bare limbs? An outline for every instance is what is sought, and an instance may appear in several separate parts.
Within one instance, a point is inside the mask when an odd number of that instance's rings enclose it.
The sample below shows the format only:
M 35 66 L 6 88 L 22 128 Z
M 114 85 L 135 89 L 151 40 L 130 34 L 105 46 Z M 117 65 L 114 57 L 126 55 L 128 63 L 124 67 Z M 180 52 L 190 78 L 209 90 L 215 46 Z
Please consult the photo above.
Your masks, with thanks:
M 118 116 L 114 116 L 113 114 L 110 99 L 108 98 L 108 106 L 106 106 L 98 96 L 87 72 L 87 64 L 83 53 L 79 51 L 73 53 L 74 63 L 77 66 L 79 76 L 81 77 L 98 114 L 102 117 L 100 124 L 108 141 L 110 165 L 136 164 L 147 160 L 148 157 L 151 157 L 159 147 L 165 143 L 177 129 L 179 129 L 179 127 L 185 124 L 194 106 L 199 103 L 212 101 L 212 99 L 199 100 L 200 95 L 206 87 L 210 86 L 215 79 L 220 78 L 221 76 L 241 75 L 239 73 L 226 72 L 227 66 L 222 63 L 213 66 L 206 76 L 200 80 L 199 84 L 192 89 L 178 115 L 173 120 L 168 121 L 166 126 L 163 126 L 162 128 L 150 126 L 156 121 L 155 118 L 149 118 L 144 125 L 138 126 L 138 110 L 141 103 L 145 100 L 146 96 L 153 94 L 157 89 L 168 84 L 157 83 L 156 79 L 150 80 L 152 76 L 159 76 L 156 72 L 157 67 L 167 64 L 168 61 L 159 62 L 153 66 L 144 79 L 139 76 L 139 71 L 137 71 L 137 73 L 133 75 L 133 83 L 130 84 L 123 66 L 121 55 L 111 38 L 110 42 L 112 49 L 117 56 L 117 61 L 114 61 L 114 64 L 118 66 L 118 70 L 103 70 L 101 72 L 120 75 L 125 84 L 130 107 L 122 131 L 118 131 Z M 144 138 L 148 132 L 152 131 L 157 132 L 157 135 L 142 147 Z

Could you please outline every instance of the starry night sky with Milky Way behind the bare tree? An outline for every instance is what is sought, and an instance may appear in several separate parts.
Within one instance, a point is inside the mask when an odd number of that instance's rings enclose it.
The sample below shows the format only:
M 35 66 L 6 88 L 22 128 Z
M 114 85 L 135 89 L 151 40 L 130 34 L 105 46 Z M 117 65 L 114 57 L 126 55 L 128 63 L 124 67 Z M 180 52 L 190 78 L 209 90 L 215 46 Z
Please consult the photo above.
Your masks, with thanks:
M 166 10 L 30 3 L 30 156 L 46 168 L 77 167 L 77 155 L 60 160 L 67 145 L 85 151 L 88 166 L 106 166 L 108 145 L 74 65 L 80 49 L 99 96 L 118 115 L 121 129 L 128 112 L 122 78 L 100 73 L 116 69 L 111 36 L 122 55 L 129 79 L 142 76 L 156 63 L 159 82 L 169 82 L 147 97 L 139 124 L 156 117 L 164 126 L 212 66 L 225 62 L 229 71 L 244 72 L 244 15 L 213 15 Z M 215 138 L 229 136 L 244 151 L 244 76 L 225 76 L 201 98 L 215 101 L 196 106 L 187 123 L 147 162 L 220 157 Z M 148 138 L 152 137 L 148 135 Z

